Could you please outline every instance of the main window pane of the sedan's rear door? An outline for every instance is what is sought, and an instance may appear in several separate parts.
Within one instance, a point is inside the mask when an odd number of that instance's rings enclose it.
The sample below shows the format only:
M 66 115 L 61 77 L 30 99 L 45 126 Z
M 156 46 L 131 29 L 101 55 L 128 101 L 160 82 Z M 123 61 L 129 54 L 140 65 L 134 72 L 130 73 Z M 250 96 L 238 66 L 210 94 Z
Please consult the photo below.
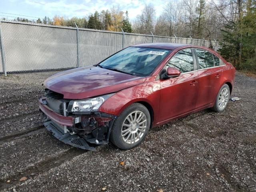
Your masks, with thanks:
M 196 53 L 200 69 L 214 67 L 212 53 L 202 49 L 196 49 Z

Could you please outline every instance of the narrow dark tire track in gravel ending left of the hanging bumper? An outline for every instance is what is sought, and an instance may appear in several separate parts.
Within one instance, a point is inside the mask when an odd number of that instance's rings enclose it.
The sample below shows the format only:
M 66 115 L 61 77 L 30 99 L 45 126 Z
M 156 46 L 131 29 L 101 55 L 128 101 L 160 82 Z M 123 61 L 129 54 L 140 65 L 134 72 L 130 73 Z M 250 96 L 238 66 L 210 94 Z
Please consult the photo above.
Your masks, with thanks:
M 13 141 L 16 139 L 21 139 L 24 137 L 31 136 L 33 134 L 38 134 L 42 131 L 46 131 L 46 129 L 44 128 L 44 125 L 36 126 L 29 130 L 20 131 L 20 132 L 14 133 L 14 134 L 9 134 L 9 135 L 6 135 L 6 136 L 0 138 L 0 145 L 4 144 L 5 142 L 10 142 L 10 141 Z

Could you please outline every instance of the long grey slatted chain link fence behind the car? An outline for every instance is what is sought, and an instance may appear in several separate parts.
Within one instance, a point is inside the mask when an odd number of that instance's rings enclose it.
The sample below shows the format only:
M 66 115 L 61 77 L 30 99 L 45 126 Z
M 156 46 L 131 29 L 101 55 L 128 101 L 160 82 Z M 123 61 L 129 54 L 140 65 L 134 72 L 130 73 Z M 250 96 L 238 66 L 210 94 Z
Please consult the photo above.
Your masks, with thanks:
M 134 44 L 170 42 L 210 46 L 192 38 L 150 36 L 26 22 L 0 21 L 0 73 L 75 68 L 97 64 Z M 218 42 L 212 42 L 218 48 Z M 6 68 L 6 70 L 5 70 Z

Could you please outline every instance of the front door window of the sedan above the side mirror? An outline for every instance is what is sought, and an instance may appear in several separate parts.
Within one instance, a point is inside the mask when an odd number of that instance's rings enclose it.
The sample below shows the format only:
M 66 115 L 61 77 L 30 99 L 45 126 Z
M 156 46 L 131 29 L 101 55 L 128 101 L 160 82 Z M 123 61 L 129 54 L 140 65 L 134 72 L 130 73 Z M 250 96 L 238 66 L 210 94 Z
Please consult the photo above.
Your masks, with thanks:
M 184 49 L 176 53 L 167 64 L 168 67 L 175 67 L 181 73 L 194 70 L 194 61 L 191 49 Z

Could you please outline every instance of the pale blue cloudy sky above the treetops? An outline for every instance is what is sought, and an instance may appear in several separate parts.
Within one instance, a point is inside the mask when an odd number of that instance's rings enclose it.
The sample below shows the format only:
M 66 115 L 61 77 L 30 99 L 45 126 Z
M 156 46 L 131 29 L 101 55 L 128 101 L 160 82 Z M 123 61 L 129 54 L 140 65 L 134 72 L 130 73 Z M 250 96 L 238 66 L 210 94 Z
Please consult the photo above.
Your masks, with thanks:
M 50 18 L 55 15 L 71 18 L 74 16 L 84 17 L 96 10 L 107 10 L 116 5 L 120 5 L 124 12 L 128 10 L 129 18 L 133 20 L 144 7 L 144 4 L 153 4 L 156 8 L 156 16 L 159 16 L 163 10 L 166 0 L 0 0 L 0 18 L 18 17 L 20 14 L 26 16 L 35 16 Z M 6 14 L 9 13 L 9 14 Z M 9 16 L 9 17 L 7 17 Z M 11 17 L 12 16 L 12 17 Z M 19 16 L 28 19 L 32 17 Z

